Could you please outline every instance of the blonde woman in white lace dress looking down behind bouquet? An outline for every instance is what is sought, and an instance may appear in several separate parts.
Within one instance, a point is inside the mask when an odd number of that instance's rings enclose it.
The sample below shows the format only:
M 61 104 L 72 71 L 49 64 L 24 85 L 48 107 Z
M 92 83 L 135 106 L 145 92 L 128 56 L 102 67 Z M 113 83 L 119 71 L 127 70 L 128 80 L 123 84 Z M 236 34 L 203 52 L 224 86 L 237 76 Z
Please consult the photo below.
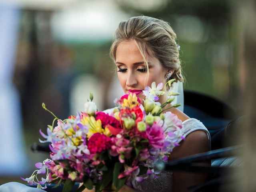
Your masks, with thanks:
M 163 20 L 138 16 L 120 22 L 114 34 L 110 55 L 116 64 L 118 80 L 125 94 L 136 93 L 143 101 L 142 90 L 151 86 L 152 82 L 165 83 L 171 78 L 183 81 L 179 46 L 175 40 L 176 34 Z M 166 95 L 159 98 L 160 103 L 166 100 Z M 170 104 L 166 106 L 169 107 Z M 174 148 L 169 161 L 210 150 L 210 134 L 200 121 L 189 118 L 177 108 L 170 108 L 169 111 L 182 120 L 182 133 L 186 138 L 180 142 L 180 146 Z M 124 186 L 120 191 L 182 192 L 187 191 L 188 186 L 201 184 L 206 179 L 205 174 L 164 171 L 156 179 L 137 183 L 136 190 Z

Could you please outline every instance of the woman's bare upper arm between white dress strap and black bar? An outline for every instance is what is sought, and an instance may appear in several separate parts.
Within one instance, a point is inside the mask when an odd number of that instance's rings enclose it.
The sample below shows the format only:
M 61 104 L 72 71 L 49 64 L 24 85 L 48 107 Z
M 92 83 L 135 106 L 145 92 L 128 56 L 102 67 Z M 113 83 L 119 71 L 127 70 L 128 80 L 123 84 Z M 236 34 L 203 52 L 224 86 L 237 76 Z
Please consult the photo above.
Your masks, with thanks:
M 207 133 L 204 130 L 196 130 L 188 134 L 185 140 L 180 142 L 180 146 L 174 148 L 169 160 L 186 157 L 210 150 Z

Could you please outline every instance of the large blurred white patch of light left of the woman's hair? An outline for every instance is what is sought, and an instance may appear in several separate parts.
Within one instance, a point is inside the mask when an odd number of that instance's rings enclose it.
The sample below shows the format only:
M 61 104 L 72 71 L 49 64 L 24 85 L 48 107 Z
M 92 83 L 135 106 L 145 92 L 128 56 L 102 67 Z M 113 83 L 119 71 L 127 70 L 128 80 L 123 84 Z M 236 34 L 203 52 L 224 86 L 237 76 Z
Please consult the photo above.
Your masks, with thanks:
M 111 40 L 120 20 L 128 17 L 111 1 L 96 0 L 54 13 L 51 26 L 61 42 L 102 42 Z

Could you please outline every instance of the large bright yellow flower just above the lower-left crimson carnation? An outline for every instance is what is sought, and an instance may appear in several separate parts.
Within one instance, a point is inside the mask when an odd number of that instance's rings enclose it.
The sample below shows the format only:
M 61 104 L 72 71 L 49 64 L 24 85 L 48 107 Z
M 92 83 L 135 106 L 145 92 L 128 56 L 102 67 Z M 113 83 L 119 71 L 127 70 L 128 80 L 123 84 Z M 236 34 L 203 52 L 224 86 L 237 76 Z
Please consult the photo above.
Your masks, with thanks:
M 90 138 L 94 133 L 104 132 L 100 119 L 96 121 L 94 116 L 84 116 L 84 118 L 81 120 L 81 123 L 89 127 L 87 133 L 88 138 Z

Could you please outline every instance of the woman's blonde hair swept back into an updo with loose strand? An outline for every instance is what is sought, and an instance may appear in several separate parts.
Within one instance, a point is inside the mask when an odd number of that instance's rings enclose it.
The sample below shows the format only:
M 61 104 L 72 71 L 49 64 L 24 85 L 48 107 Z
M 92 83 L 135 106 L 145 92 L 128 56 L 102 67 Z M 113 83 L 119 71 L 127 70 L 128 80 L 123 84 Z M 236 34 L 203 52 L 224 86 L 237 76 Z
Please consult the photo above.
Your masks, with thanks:
M 171 78 L 183 82 L 176 34 L 167 22 L 148 16 L 132 17 L 120 22 L 110 48 L 110 56 L 114 62 L 117 46 L 120 42 L 129 40 L 134 40 L 138 46 L 147 69 L 148 55 L 152 54 L 164 68 L 174 70 Z M 148 75 L 149 72 L 147 78 Z

